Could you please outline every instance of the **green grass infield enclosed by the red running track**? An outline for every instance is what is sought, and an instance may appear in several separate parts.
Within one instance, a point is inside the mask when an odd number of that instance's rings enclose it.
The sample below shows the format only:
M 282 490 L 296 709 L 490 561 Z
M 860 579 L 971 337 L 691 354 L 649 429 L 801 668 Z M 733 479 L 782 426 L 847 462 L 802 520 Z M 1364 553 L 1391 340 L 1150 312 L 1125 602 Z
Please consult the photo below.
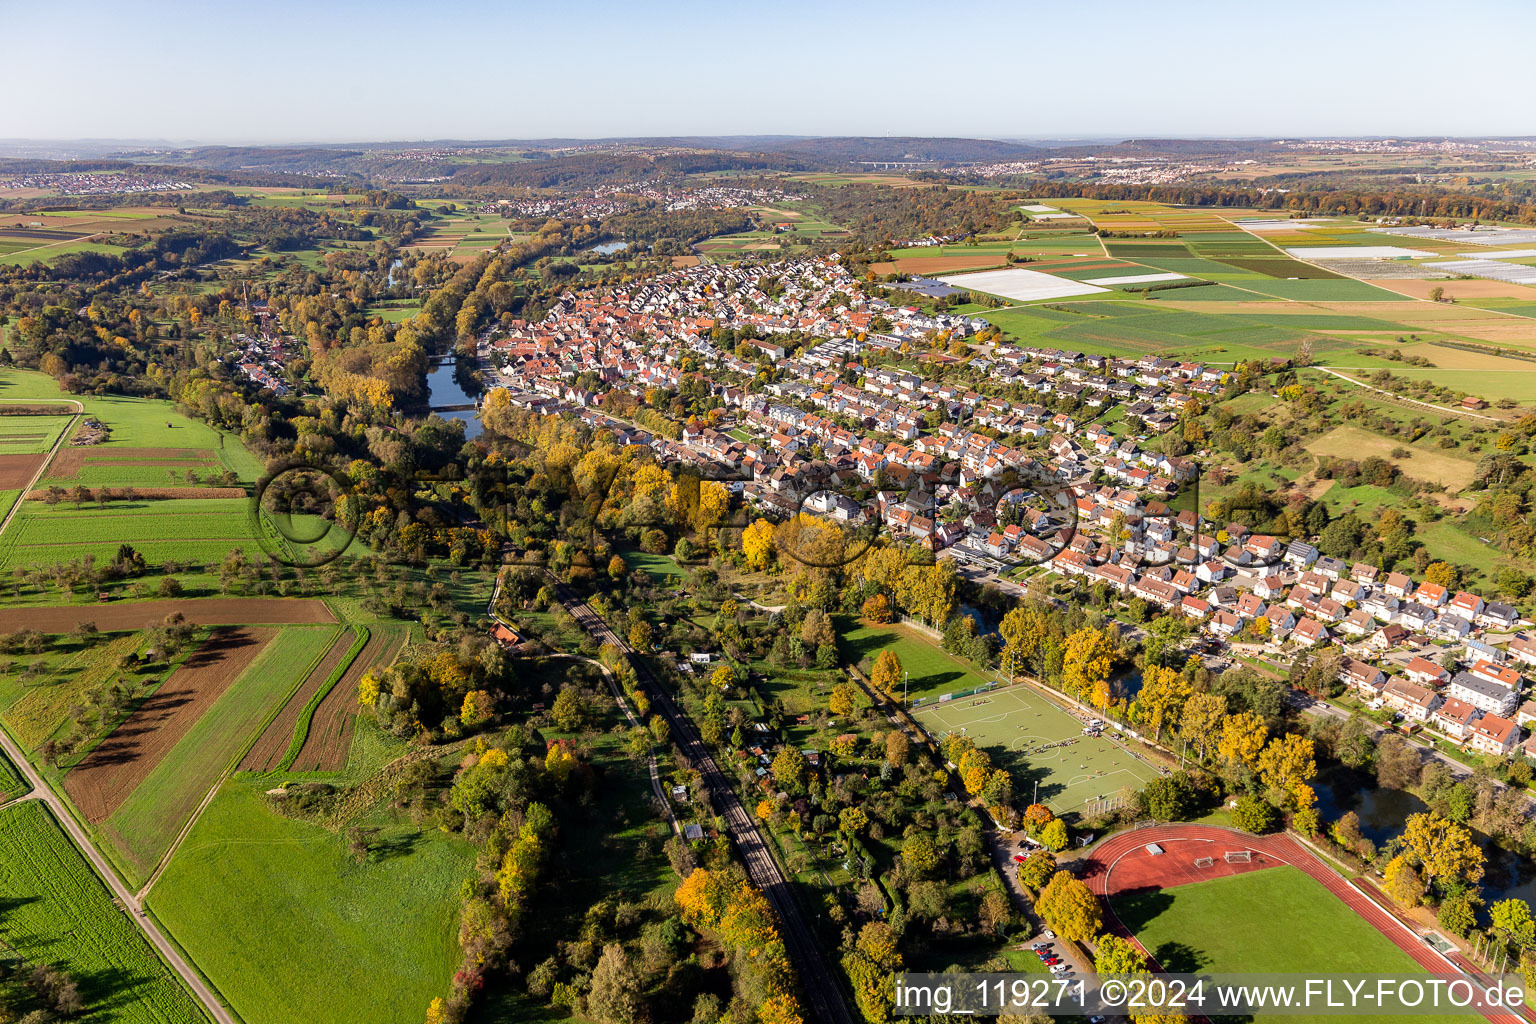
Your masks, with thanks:
M 1424 973 L 1407 953 L 1318 881 L 1290 866 L 1121 895 L 1112 906 L 1158 963 L 1177 973 Z

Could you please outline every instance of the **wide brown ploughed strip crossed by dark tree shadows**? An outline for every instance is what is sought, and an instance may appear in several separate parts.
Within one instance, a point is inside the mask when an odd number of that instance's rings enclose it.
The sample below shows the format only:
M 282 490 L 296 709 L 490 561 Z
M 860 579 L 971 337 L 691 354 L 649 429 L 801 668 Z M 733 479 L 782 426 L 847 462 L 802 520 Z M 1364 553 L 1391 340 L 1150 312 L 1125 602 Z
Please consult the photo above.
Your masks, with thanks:
M 270 628 L 214 634 L 71 769 L 65 791 L 86 820 L 100 824 L 117 811 L 276 634 Z

